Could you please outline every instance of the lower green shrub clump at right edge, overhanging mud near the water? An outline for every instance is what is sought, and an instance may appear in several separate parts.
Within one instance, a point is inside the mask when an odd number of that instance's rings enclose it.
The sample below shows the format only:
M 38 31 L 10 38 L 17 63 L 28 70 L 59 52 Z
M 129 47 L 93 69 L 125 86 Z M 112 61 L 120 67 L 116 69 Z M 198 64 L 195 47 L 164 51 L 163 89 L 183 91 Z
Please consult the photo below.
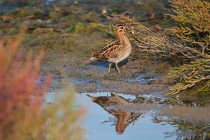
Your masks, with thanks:
M 194 90 L 196 93 L 210 92 L 210 59 L 197 59 L 190 64 L 172 68 L 169 75 L 176 79 L 176 84 L 169 88 L 171 92 L 168 95 L 179 93 L 194 86 L 198 88 Z

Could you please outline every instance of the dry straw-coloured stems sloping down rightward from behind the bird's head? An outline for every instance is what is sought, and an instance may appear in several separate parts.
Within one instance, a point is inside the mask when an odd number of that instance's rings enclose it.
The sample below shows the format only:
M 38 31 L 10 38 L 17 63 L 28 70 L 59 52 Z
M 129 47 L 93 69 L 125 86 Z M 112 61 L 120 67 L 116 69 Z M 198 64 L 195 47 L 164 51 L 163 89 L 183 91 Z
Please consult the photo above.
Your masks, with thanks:
M 145 55 L 159 58 L 210 58 L 209 54 L 203 54 L 193 47 L 186 46 L 183 41 L 169 36 L 166 32 L 154 31 L 129 17 L 115 16 L 111 20 L 127 27 L 130 39 Z

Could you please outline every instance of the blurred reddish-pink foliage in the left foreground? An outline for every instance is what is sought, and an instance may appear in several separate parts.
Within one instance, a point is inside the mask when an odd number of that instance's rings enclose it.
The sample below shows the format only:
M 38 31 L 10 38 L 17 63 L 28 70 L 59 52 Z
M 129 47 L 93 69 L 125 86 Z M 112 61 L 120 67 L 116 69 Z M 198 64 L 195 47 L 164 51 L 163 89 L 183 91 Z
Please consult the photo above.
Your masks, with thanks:
M 41 96 L 49 87 L 50 78 L 40 82 L 40 60 L 43 51 L 34 59 L 32 53 L 23 61 L 19 39 L 0 40 L 0 132 L 27 113 L 40 110 Z M 33 113 L 32 113 L 33 114 Z

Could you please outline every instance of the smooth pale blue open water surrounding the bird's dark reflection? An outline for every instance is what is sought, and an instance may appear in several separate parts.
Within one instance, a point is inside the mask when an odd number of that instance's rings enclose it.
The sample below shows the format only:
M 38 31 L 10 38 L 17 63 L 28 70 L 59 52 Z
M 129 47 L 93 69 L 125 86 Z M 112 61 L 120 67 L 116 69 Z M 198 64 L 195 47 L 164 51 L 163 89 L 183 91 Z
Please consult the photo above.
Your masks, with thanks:
M 110 93 L 91 93 L 91 96 L 110 96 Z M 122 96 L 122 94 L 120 94 Z M 135 99 L 135 96 L 125 95 L 126 99 Z M 76 96 L 75 106 L 87 107 L 87 114 L 84 128 L 86 130 L 86 140 L 137 140 L 156 139 L 162 140 L 167 137 L 167 133 L 176 131 L 173 126 L 162 122 L 154 123 L 150 113 L 142 114 L 137 120 L 129 124 L 122 134 L 116 132 L 116 118 L 105 111 L 101 106 L 91 101 L 87 94 Z M 175 139 L 176 136 L 167 139 Z

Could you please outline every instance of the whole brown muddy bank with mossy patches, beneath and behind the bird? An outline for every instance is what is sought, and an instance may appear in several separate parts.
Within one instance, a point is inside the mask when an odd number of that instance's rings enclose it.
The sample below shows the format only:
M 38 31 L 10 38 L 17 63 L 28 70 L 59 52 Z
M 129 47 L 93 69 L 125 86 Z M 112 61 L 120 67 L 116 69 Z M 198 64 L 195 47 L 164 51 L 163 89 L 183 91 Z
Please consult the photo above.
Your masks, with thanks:
M 32 1 L 21 5 L 2 2 L 0 5 L 16 8 L 1 11 L 0 36 L 6 38 L 24 32 L 24 50 L 32 49 L 34 53 L 45 50 L 43 74 L 51 73 L 56 81 L 65 73 L 73 79 L 78 92 L 160 94 L 167 87 L 164 76 L 171 65 L 153 58 L 143 59 L 144 54 L 134 44 L 131 56 L 119 64 L 120 75 L 114 67 L 107 74 L 107 62 L 89 63 L 88 59 L 115 40 L 114 27 L 110 26 L 113 23 L 105 15 L 129 15 L 147 25 L 156 25 L 159 21 L 164 24 L 169 20 L 164 15 L 170 12 L 168 4 L 165 0 L 44 1 L 40 4 Z

